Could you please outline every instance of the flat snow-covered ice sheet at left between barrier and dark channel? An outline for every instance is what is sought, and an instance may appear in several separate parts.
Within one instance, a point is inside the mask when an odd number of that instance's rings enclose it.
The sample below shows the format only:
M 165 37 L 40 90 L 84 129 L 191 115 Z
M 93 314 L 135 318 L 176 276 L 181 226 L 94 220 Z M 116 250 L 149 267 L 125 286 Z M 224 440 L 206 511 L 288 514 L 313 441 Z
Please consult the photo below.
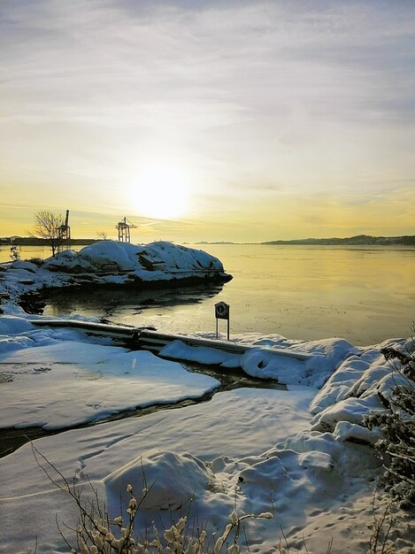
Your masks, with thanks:
M 34 335 L 46 344 L 30 348 Z M 76 341 L 50 344 L 44 335 L 38 330 L 27 337 L 29 343 L 16 337 L 14 347 L 26 348 L 12 353 L 0 341 L 0 367 L 8 377 L 2 401 L 7 417 L 0 427 L 73 427 L 149 404 L 197 398 L 220 384 L 150 352 Z

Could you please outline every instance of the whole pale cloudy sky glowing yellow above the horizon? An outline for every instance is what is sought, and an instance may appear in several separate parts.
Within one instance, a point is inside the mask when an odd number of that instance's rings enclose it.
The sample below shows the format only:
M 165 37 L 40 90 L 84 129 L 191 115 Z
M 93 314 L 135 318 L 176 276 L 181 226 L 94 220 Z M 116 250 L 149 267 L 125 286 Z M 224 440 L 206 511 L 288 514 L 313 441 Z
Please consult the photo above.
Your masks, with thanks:
M 415 235 L 412 0 L 0 0 L 0 236 Z

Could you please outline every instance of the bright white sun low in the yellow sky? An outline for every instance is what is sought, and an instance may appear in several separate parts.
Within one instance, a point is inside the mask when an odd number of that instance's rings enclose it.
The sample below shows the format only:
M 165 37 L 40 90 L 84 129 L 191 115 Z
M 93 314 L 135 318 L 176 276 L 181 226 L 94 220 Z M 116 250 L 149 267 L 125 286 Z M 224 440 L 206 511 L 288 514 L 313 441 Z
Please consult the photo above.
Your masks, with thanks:
M 188 211 L 188 181 L 172 165 L 152 165 L 142 170 L 132 189 L 134 208 L 142 216 L 176 219 Z

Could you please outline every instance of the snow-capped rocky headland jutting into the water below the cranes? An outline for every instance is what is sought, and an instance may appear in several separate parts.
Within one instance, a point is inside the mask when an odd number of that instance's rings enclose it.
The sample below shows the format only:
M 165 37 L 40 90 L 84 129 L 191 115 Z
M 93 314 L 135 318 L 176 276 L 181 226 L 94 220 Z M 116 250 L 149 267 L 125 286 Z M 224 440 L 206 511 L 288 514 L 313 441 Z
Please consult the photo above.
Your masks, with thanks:
M 232 279 L 218 258 L 172 242 L 135 245 L 101 241 L 76 252 L 64 250 L 46 260 L 0 265 L 0 296 L 19 302 L 50 289 L 122 286 L 143 289 Z

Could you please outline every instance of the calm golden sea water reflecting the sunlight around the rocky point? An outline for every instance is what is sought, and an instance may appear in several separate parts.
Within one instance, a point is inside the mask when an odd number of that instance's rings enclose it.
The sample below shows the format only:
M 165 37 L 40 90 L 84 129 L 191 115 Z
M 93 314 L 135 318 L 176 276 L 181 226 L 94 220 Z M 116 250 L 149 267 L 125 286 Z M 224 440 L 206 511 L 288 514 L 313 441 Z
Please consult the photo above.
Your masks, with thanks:
M 81 313 L 172 333 L 211 332 L 214 304 L 231 304 L 231 334 L 342 336 L 371 344 L 411 335 L 415 249 L 206 244 L 234 275 L 223 287 L 55 295 L 45 313 Z M 32 247 L 34 249 L 34 247 Z M 5 249 L 3 249 L 5 250 Z M 29 250 L 29 248 L 27 248 Z M 39 250 L 39 249 L 38 249 Z M 9 250 L 7 250 L 7 254 Z M 49 255 L 43 252 L 22 258 Z M 7 257 L 5 258 L 7 259 Z M 225 333 L 226 322 L 219 321 Z

